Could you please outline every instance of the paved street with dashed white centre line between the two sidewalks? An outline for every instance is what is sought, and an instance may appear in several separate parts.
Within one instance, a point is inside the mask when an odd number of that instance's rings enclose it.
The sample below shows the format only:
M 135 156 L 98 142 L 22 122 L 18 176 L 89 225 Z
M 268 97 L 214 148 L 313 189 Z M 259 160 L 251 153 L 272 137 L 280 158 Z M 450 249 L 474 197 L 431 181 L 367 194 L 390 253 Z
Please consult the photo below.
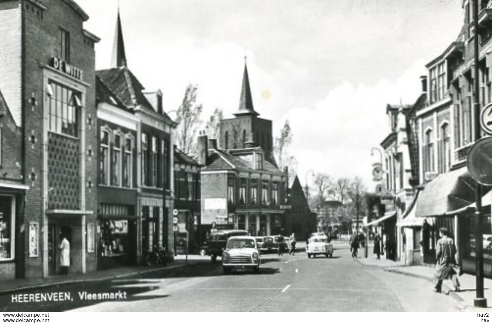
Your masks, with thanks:
M 259 274 L 223 275 L 220 264 L 203 263 L 172 272 L 98 284 L 74 284 L 74 301 L 44 303 L 45 310 L 79 311 L 456 311 L 456 300 L 434 294 L 430 283 L 361 265 L 346 243 L 334 258 L 262 256 Z M 55 289 L 45 289 L 43 292 Z M 79 300 L 78 292 L 126 291 L 125 301 Z M 6 296 L 2 296 L 6 297 Z M 5 298 L 0 297 L 0 304 Z M 9 304 L 15 310 L 21 304 Z M 22 304 L 32 310 L 41 304 Z M 29 308 L 23 308 L 28 310 Z

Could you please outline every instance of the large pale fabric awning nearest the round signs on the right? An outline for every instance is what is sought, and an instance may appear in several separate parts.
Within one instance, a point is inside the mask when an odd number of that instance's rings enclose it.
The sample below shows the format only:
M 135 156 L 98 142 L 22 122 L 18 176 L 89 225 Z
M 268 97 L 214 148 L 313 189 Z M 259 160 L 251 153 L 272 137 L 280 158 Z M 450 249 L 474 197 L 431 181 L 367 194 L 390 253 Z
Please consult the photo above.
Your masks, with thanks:
M 442 216 L 470 205 L 475 201 L 475 185 L 466 167 L 438 175 L 424 187 L 415 216 Z

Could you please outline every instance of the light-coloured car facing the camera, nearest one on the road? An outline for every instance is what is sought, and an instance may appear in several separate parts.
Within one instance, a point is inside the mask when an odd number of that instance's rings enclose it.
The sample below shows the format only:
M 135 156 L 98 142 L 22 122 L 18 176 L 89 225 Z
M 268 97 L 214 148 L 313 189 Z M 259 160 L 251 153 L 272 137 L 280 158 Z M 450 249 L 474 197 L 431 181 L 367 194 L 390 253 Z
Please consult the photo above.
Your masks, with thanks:
M 260 251 L 254 237 L 234 236 L 227 240 L 222 254 L 222 269 L 224 274 L 228 274 L 233 268 L 251 268 L 255 273 L 260 271 Z

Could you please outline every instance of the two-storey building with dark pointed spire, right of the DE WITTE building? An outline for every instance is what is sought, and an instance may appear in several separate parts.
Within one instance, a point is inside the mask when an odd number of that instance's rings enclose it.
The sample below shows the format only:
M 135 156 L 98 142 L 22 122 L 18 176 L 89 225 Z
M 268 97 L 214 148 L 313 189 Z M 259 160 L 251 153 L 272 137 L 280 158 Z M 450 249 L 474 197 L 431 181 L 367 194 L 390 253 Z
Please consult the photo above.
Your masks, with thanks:
M 98 70 L 98 209 L 102 266 L 172 249 L 171 129 L 162 93 L 145 91 L 126 64 L 118 13 L 112 66 Z

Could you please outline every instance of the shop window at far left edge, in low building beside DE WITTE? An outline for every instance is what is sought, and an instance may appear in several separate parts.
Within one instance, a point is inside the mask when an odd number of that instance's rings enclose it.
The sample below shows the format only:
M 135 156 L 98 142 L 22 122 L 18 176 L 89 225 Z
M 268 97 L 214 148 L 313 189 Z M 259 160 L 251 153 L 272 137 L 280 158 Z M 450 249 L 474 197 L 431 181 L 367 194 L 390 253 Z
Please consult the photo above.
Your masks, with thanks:
M 14 258 L 14 215 L 12 198 L 0 196 L 0 260 Z

